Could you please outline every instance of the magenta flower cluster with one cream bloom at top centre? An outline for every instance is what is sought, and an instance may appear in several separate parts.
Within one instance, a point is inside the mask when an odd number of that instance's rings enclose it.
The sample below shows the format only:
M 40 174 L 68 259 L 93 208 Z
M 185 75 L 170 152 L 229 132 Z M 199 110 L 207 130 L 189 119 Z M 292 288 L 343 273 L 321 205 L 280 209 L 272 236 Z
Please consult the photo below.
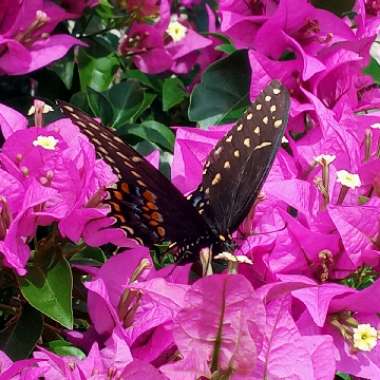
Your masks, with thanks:
M 144 3 L 141 8 L 132 1 L 128 2 L 128 7 L 137 12 L 136 21 L 122 39 L 120 52 L 131 56 L 142 72 L 186 74 L 195 65 L 205 68 L 220 56 L 214 50 L 212 38 L 198 33 L 184 14 L 170 13 L 168 0 L 161 1 L 155 7 Z M 212 32 L 215 31 L 215 17 L 211 10 L 209 14 L 208 29 Z M 148 16 L 149 21 L 144 21 Z

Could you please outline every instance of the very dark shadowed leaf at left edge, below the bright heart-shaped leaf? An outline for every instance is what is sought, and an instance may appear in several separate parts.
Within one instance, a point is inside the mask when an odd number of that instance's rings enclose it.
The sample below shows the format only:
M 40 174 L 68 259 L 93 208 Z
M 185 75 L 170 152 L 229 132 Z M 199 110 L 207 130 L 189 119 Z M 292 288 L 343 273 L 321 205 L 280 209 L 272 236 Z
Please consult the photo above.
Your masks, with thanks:
M 25 304 L 20 318 L 10 329 L 0 335 L 0 349 L 12 360 L 21 360 L 32 353 L 43 328 L 42 315 L 32 306 Z

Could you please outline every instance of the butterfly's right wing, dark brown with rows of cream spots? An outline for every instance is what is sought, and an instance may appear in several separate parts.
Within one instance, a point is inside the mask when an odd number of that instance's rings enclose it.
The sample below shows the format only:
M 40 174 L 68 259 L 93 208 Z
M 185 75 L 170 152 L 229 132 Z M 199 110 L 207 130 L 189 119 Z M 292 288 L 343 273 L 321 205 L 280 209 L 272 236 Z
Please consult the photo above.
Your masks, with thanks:
M 281 144 L 289 94 L 272 81 L 210 153 L 193 205 L 221 234 L 233 232 L 249 213 Z

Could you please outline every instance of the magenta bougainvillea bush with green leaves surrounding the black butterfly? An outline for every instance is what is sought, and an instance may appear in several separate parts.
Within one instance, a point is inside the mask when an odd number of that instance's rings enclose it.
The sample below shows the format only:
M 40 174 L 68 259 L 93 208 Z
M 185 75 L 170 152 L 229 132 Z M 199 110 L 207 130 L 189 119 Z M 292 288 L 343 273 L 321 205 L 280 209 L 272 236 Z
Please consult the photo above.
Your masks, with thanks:
M 0 379 L 380 378 L 380 4 L 331 3 L 0 1 Z M 54 108 L 188 195 L 272 79 L 281 148 L 203 278 L 115 227 L 117 171 Z

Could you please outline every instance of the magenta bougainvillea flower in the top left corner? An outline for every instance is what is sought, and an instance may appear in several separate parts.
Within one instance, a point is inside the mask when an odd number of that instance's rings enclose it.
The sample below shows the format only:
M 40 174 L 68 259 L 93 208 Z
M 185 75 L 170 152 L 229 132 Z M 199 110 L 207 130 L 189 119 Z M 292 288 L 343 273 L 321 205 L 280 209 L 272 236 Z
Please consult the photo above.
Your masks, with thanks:
M 69 14 L 51 1 L 3 1 L 0 5 L 0 74 L 30 73 L 60 58 L 79 40 L 51 35 Z

